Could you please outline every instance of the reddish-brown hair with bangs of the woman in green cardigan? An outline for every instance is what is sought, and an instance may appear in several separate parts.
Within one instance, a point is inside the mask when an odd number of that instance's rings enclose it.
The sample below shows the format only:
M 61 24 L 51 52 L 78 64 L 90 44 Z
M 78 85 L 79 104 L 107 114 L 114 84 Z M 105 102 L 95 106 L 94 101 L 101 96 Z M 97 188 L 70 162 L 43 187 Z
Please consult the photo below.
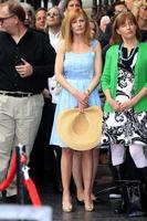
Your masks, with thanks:
M 129 20 L 135 24 L 135 27 L 136 27 L 136 38 L 137 38 L 137 40 L 140 40 L 140 32 L 139 32 L 138 23 L 136 21 L 135 15 L 132 12 L 122 12 L 114 20 L 113 34 L 112 34 L 112 39 L 109 41 L 109 44 L 118 44 L 123 41 L 120 34 L 117 33 L 117 29 L 119 29 L 119 27 L 125 24 L 126 20 Z

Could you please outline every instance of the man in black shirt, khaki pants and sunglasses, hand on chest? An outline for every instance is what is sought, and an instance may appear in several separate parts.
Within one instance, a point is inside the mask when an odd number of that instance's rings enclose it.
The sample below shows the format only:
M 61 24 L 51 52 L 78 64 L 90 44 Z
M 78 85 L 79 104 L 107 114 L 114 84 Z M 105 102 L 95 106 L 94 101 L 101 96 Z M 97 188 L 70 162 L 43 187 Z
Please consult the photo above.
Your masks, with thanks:
M 42 91 L 54 69 L 55 52 L 48 36 L 27 29 L 18 2 L 0 3 L 0 182 L 15 146 L 25 145 L 30 156 L 42 115 Z M 15 194 L 12 182 L 7 199 Z

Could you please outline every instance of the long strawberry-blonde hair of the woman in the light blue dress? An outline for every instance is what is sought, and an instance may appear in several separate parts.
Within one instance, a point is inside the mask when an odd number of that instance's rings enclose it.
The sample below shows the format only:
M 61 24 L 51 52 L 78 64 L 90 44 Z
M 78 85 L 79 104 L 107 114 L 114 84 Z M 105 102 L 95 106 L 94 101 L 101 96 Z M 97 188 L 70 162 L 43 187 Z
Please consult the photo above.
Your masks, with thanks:
M 87 45 L 91 44 L 91 34 L 90 34 L 90 19 L 86 12 L 83 9 L 72 9 L 66 13 L 66 17 L 63 20 L 62 24 L 62 38 L 65 41 L 65 51 L 71 51 L 73 43 L 73 31 L 72 22 L 78 17 L 83 15 L 85 20 L 85 33 L 84 41 Z

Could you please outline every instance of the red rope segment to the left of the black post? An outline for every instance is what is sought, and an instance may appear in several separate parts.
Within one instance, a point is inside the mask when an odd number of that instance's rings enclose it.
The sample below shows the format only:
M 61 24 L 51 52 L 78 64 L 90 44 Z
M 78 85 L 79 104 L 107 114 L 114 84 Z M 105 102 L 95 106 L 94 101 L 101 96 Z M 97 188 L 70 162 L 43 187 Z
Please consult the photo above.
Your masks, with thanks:
M 14 175 L 15 175 L 15 169 L 17 169 L 17 156 L 13 154 L 11 165 L 10 165 L 10 170 L 8 172 L 7 178 L 0 183 L 0 191 L 6 190 L 10 183 L 12 182 Z

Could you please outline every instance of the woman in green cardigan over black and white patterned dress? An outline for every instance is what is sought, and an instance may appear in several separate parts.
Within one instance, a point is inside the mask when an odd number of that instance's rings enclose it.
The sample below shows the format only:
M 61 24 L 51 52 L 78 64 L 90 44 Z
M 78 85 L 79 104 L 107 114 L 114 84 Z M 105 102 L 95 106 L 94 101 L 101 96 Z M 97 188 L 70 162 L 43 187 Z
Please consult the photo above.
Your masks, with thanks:
M 112 46 L 106 53 L 102 88 L 104 106 L 103 141 L 111 144 L 113 166 L 125 161 L 125 146 L 147 180 L 147 43 L 139 42 L 138 25 L 130 12 L 114 22 Z

